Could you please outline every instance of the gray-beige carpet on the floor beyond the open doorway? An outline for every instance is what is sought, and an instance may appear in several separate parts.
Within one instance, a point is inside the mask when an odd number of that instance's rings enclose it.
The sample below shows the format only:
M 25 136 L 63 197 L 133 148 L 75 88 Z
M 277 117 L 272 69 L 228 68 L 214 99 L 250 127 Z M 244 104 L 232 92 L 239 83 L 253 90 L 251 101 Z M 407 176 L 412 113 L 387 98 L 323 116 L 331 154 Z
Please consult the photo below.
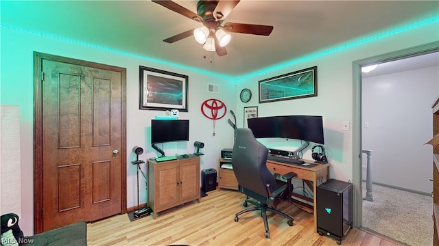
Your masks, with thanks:
M 433 245 L 433 198 L 373 184 L 373 202 L 363 200 L 364 228 L 412 246 Z M 363 198 L 366 184 L 363 182 Z

